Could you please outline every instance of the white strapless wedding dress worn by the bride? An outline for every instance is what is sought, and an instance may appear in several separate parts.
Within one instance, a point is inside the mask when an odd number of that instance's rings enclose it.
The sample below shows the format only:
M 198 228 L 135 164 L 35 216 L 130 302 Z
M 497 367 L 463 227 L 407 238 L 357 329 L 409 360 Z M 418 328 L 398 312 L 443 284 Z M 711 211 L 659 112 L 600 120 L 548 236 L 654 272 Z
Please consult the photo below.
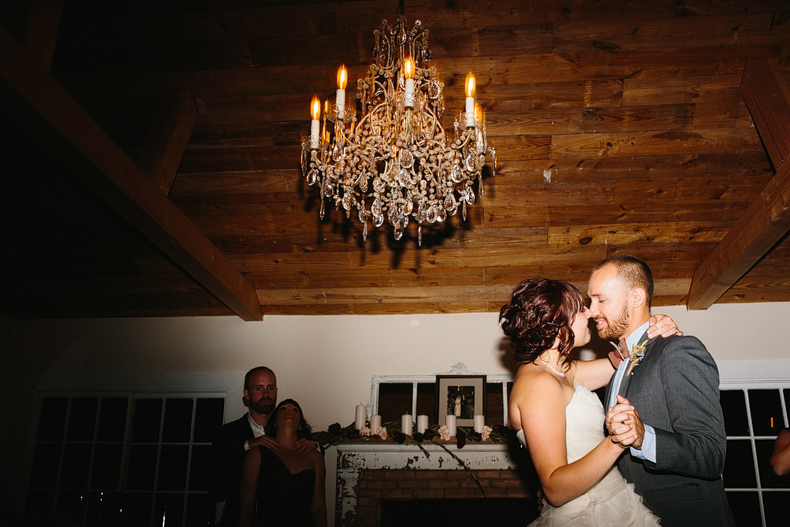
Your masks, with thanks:
M 598 397 L 584 386 L 577 386 L 571 402 L 565 407 L 568 463 L 581 459 L 603 440 L 604 417 Z M 523 430 L 519 430 L 516 437 L 527 446 Z M 659 525 L 659 518 L 642 503 L 642 497 L 625 481 L 616 465 L 578 498 L 560 507 L 545 501 L 544 504 L 540 517 L 529 527 Z

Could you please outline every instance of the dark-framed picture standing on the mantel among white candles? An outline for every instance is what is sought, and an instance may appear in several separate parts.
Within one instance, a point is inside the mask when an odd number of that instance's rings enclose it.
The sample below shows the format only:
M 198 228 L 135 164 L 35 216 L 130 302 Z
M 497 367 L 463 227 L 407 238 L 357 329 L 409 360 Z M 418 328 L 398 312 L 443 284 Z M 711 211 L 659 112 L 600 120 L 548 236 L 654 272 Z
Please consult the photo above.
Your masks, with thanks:
M 437 375 L 437 422 L 443 425 L 448 415 L 455 415 L 457 426 L 471 427 L 475 415 L 485 415 L 485 375 Z

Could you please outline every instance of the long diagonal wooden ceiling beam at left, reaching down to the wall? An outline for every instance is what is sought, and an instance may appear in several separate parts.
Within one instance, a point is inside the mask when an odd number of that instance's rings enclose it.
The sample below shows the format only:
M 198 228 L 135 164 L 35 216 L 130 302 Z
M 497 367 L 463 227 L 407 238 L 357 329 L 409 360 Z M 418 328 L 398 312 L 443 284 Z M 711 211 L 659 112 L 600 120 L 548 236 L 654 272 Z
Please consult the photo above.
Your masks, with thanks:
M 244 320 L 255 288 L 121 148 L 0 26 L 0 111 Z

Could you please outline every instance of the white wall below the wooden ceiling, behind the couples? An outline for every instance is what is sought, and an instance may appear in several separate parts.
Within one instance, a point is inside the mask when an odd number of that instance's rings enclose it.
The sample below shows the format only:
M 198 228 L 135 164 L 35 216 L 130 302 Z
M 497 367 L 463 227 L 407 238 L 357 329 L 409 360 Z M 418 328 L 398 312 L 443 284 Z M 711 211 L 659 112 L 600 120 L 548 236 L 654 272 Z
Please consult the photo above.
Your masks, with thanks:
M 671 315 L 683 331 L 698 336 L 724 366 L 723 376 L 742 371 L 729 361 L 743 359 L 772 361 L 757 368 L 750 363 L 753 369 L 787 371 L 790 361 L 782 359 L 790 357 L 790 348 L 782 337 L 790 320 L 790 303 L 715 305 L 694 312 L 662 307 L 654 312 Z M 266 316 L 262 322 L 233 317 L 69 321 L 0 317 L 0 331 L 0 419 L 14 423 L 0 432 L 3 474 L 18 474 L 23 468 L 21 454 L 34 426 L 32 400 L 38 388 L 138 382 L 134 379 L 140 376 L 135 374 L 143 372 L 225 372 L 211 384 L 233 384 L 227 390 L 235 405 L 231 407 L 238 408 L 240 415 L 239 376 L 263 364 L 277 373 L 280 398 L 299 400 L 320 430 L 334 422 L 353 421 L 354 406 L 368 402 L 372 375 L 442 373 L 456 362 L 487 374 L 513 370 L 496 313 Z M 600 341 L 595 346 L 607 349 Z M 18 482 L 6 480 L 3 486 L 0 500 L 9 494 L 18 498 Z

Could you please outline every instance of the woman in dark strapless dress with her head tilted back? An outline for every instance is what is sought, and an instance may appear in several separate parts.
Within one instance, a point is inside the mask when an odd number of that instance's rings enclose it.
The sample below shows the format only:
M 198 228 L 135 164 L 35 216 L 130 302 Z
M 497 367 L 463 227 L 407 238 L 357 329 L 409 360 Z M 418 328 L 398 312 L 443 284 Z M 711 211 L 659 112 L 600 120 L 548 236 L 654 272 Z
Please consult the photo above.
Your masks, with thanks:
M 242 527 L 326 527 L 324 457 L 296 452 L 293 444 L 311 438 L 299 403 L 286 399 L 275 408 L 266 435 L 279 448 L 253 448 L 241 474 Z

